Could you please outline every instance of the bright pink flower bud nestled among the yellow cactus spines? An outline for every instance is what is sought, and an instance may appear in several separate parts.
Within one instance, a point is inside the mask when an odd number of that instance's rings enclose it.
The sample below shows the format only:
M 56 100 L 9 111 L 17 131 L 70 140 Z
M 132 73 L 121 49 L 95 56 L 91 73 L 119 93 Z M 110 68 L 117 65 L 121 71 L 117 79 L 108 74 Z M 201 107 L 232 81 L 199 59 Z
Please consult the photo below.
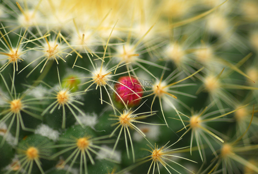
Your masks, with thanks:
M 128 101 L 128 107 L 138 106 L 140 104 L 140 98 L 143 96 L 143 88 L 140 82 L 134 77 L 123 76 L 118 79 L 119 83 L 115 84 L 115 90 L 119 96 L 124 100 L 125 104 Z M 123 104 L 118 95 L 115 96 L 115 100 L 119 104 Z M 137 100 L 138 99 L 138 100 Z

